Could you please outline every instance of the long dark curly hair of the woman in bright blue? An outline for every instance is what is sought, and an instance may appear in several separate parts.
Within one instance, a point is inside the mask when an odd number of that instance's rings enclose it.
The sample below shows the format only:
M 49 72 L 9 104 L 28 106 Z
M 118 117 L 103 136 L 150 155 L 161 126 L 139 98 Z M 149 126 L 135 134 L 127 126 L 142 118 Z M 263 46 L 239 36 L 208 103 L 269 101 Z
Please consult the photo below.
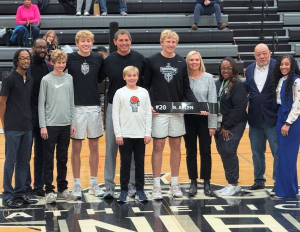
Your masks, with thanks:
M 276 97 L 276 88 L 277 88 L 277 85 L 279 83 L 279 80 L 280 80 L 281 77 L 283 77 L 283 75 L 280 71 L 280 63 L 284 58 L 287 58 L 290 62 L 290 70 L 289 70 L 289 73 L 287 75 L 286 84 L 285 84 L 285 91 L 284 91 L 284 99 L 285 99 L 285 101 L 287 101 L 288 93 L 291 90 L 291 86 L 292 86 L 292 78 L 294 76 L 299 76 L 300 71 L 299 71 L 299 67 L 298 67 L 298 64 L 297 64 L 297 61 L 295 60 L 295 58 L 293 58 L 292 56 L 286 55 L 286 54 L 282 55 L 282 56 L 279 56 L 276 60 L 276 64 L 275 64 L 273 72 L 272 72 L 274 97 Z

